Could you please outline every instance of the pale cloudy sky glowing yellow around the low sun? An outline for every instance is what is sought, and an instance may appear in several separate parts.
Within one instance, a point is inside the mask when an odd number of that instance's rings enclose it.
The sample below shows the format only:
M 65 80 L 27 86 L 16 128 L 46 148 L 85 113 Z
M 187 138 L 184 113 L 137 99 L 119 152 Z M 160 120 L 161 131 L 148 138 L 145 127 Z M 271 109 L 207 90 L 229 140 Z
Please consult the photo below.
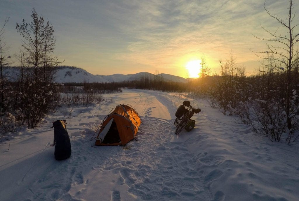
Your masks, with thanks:
M 22 45 L 16 23 L 31 22 L 34 8 L 53 25 L 54 53 L 63 65 L 92 74 L 159 72 L 188 78 L 193 76 L 188 63 L 200 62 L 203 55 L 210 73 L 219 74 L 219 59 L 232 52 L 250 75 L 261 61 L 251 50 L 267 50 L 253 35 L 270 37 L 260 24 L 286 34 L 263 5 L 260 0 L 1 0 L 0 25 L 9 17 L 4 41 L 10 55 L 16 54 Z M 285 19 L 289 1 L 267 0 L 266 8 Z M 299 11 L 298 2 L 293 10 Z

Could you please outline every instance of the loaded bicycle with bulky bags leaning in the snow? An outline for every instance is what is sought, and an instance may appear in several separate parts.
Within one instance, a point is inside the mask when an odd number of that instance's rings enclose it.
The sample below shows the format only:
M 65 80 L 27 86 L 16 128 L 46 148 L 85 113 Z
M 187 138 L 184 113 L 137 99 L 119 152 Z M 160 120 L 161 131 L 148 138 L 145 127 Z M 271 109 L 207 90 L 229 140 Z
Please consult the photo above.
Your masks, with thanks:
M 187 107 L 187 108 L 186 108 Z M 195 109 L 190 105 L 190 101 L 184 100 L 183 105 L 179 106 L 176 111 L 176 119 L 174 125 L 176 126 L 176 134 L 179 134 L 183 129 L 191 131 L 195 126 L 195 120 L 190 119 L 194 113 L 198 114 L 201 109 Z

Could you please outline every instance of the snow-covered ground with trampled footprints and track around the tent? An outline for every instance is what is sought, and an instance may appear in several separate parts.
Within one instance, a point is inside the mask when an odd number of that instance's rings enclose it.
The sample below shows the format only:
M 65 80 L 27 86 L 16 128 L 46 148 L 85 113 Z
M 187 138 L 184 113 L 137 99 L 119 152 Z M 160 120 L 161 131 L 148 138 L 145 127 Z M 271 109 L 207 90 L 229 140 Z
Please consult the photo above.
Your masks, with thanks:
M 174 134 L 183 100 L 202 112 Z M 103 118 L 132 105 L 138 141 L 91 147 Z M 70 116 L 70 118 L 68 118 Z M 56 161 L 52 121 L 67 119 L 72 154 Z M 92 107 L 62 108 L 39 128 L 0 143 L 0 200 L 299 200 L 299 146 L 272 143 L 250 127 L 179 93 L 124 89 Z

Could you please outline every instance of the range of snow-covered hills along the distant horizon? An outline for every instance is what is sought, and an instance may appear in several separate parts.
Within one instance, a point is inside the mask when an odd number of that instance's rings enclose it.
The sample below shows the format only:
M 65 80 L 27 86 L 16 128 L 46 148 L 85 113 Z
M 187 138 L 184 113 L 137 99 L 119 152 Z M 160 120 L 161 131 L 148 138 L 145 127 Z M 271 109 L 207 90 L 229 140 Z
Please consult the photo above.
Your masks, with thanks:
M 99 83 L 110 83 L 110 82 L 122 82 L 122 81 L 133 81 L 133 80 L 140 80 L 141 78 L 149 78 L 155 79 L 156 76 L 161 78 L 164 81 L 173 81 L 173 82 L 187 82 L 187 79 L 161 73 L 158 75 L 154 75 L 149 72 L 139 72 L 136 74 L 113 74 L 113 75 L 93 75 L 86 70 L 78 67 L 72 66 L 59 66 L 56 67 L 56 76 L 55 81 L 57 83 L 91 83 L 91 82 L 99 82 Z M 10 80 L 14 80 L 19 75 L 19 67 L 5 67 L 4 74 L 9 77 Z

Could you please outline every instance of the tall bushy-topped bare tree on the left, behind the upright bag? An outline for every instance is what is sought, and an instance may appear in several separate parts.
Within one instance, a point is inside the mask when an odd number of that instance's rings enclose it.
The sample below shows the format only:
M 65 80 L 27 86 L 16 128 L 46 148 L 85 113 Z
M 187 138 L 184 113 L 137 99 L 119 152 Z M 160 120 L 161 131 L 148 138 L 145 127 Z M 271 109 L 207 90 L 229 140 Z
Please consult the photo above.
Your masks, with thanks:
M 23 50 L 19 56 L 22 70 L 24 64 L 28 65 L 25 79 L 22 77 L 22 83 L 18 84 L 24 92 L 20 93 L 19 110 L 24 114 L 28 128 L 38 126 L 42 118 L 55 109 L 59 98 L 58 86 L 53 82 L 53 66 L 57 64 L 57 57 L 53 56 L 56 42 L 54 28 L 49 22 L 45 23 L 34 9 L 31 17 L 33 21 L 29 24 L 24 19 L 22 24 L 16 24 L 17 32 L 23 37 Z

